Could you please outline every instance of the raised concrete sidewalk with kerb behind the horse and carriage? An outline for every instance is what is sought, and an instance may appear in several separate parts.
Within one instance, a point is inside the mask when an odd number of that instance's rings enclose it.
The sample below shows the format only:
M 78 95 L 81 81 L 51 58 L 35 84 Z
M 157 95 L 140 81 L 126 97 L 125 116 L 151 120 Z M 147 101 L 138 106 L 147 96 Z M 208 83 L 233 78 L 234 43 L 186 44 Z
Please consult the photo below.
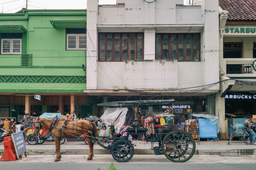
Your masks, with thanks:
M 151 143 L 144 141 L 133 140 L 135 155 L 154 155 L 151 150 Z M 198 145 L 196 142 L 195 155 L 256 155 L 255 145 L 246 145 L 245 143 L 234 141 L 227 145 L 228 141 L 218 142 L 201 142 Z M 157 146 L 155 143 L 154 146 Z M 45 142 L 42 145 L 29 145 L 26 143 L 28 155 L 55 155 L 54 142 Z M 0 143 L 0 155 L 3 154 L 3 143 Z M 84 142 L 65 142 L 61 145 L 61 154 L 63 155 L 88 155 L 89 146 Z M 103 149 L 96 143 L 94 145 L 94 155 L 110 154 L 108 150 Z

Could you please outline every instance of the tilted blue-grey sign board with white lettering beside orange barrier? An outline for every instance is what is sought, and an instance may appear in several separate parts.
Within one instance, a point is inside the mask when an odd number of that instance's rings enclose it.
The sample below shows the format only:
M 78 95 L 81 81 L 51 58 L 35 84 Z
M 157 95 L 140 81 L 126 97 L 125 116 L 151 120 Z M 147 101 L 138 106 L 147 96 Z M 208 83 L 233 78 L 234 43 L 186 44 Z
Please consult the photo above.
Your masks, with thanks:
M 22 131 L 11 134 L 11 138 L 14 144 L 14 149 L 17 153 L 17 157 L 26 152 L 26 145 Z

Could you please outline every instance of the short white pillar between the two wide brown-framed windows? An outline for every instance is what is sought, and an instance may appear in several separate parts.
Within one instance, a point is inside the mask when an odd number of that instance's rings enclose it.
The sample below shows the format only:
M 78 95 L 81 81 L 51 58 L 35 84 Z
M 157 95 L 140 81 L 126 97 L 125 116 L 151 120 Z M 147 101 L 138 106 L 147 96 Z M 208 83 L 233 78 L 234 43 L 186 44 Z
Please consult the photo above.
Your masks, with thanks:
M 144 60 L 155 60 L 155 29 L 144 31 Z

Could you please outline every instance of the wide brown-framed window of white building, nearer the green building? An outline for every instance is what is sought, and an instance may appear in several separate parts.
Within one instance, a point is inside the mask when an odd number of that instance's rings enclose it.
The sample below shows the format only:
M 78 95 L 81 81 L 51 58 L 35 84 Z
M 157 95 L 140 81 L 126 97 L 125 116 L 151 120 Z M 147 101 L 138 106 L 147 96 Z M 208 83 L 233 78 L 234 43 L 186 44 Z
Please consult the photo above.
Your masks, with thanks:
M 99 33 L 99 61 L 143 60 L 143 33 Z

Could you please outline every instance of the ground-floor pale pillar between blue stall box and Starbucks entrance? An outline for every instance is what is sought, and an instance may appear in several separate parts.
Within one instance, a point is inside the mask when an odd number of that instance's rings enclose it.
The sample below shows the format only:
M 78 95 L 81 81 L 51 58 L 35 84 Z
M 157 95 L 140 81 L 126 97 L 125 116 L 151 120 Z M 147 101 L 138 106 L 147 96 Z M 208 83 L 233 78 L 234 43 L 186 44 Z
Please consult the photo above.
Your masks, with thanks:
M 218 115 L 219 116 L 219 132 L 225 136 L 225 97 L 218 95 Z

